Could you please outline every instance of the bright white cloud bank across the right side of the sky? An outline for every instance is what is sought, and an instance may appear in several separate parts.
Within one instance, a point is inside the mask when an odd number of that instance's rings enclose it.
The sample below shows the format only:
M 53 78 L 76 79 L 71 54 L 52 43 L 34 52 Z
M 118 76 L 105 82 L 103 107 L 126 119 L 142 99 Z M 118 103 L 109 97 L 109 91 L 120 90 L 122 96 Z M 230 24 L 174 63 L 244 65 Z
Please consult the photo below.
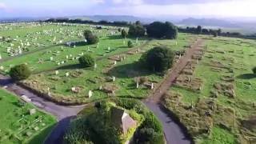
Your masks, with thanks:
M 127 0 L 126 0 L 127 1 Z M 129 1 L 129 0 L 128 0 Z M 190 16 L 223 16 L 223 17 L 255 17 L 256 1 L 233 0 L 224 2 L 208 2 L 197 4 L 150 5 L 141 3 L 138 6 L 122 6 L 113 8 L 113 13 L 127 13 L 135 15 L 190 15 Z

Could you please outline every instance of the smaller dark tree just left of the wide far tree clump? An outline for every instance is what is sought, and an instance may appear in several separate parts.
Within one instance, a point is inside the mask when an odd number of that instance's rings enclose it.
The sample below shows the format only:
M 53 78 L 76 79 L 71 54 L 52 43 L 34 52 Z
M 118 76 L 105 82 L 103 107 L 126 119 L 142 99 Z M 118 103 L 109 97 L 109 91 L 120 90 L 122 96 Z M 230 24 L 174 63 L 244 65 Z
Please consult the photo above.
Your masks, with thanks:
M 130 26 L 128 34 L 132 37 L 142 37 L 146 33 L 144 26 L 140 23 Z

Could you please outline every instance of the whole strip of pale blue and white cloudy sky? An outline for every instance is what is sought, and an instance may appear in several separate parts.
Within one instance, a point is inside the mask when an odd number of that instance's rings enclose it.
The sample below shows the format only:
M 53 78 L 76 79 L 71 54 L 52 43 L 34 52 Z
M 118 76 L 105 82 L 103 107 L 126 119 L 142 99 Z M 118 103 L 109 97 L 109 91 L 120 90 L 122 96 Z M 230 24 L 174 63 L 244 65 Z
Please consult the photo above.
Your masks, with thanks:
M 0 0 L 0 18 L 94 14 L 256 17 L 256 0 Z

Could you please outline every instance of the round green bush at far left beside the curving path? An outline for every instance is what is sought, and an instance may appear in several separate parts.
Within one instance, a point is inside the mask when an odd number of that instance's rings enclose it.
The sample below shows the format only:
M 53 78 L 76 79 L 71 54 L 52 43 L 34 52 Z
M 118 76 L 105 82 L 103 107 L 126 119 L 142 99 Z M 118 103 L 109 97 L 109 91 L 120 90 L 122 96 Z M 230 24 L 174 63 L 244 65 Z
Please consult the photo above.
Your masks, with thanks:
M 10 69 L 10 77 L 15 81 L 24 80 L 30 77 L 31 71 L 25 64 L 14 66 Z

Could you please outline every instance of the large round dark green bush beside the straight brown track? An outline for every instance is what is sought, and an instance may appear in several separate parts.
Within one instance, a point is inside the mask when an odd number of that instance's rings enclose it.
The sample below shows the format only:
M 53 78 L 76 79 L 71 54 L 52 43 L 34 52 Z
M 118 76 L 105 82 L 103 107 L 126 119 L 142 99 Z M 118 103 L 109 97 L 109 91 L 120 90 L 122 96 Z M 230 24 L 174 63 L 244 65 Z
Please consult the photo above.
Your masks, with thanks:
M 174 51 L 166 46 L 158 46 L 143 54 L 140 61 L 150 70 L 164 72 L 174 62 Z

